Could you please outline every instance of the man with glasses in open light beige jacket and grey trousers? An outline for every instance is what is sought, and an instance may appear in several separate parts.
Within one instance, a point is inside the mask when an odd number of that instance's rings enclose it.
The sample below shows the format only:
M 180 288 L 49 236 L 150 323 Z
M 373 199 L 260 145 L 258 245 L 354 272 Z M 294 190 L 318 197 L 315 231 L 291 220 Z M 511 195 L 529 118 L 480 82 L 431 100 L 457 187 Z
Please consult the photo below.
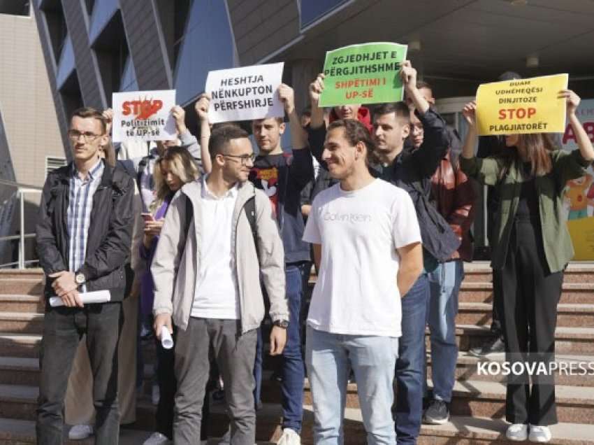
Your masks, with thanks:
M 161 229 L 151 267 L 154 329 L 160 336 L 163 326 L 169 332 L 172 323 L 178 327 L 173 442 L 200 441 L 212 350 L 225 382 L 231 443 L 253 445 L 256 330 L 264 316 L 260 276 L 275 324 L 270 354 L 279 355 L 287 336 L 280 325 L 289 318 L 284 250 L 268 198 L 247 181 L 253 166 L 247 132 L 219 127 L 209 151 L 212 171 L 180 189 Z

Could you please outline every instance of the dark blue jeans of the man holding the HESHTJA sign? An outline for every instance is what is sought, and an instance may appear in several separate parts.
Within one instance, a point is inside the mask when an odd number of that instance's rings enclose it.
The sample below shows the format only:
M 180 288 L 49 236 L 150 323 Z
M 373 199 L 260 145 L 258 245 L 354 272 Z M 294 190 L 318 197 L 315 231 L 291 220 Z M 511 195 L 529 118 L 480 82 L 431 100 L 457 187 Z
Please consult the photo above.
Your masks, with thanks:
M 286 292 L 289 302 L 289 327 L 287 328 L 287 344 L 282 351 L 282 428 L 291 428 L 301 432 L 303 421 L 303 381 L 305 367 L 303 365 L 303 345 L 301 343 L 301 322 L 303 320 L 303 294 L 305 280 L 309 278 L 310 263 L 287 264 L 285 269 Z M 263 340 L 261 329 L 258 330 L 256 360 L 254 362 L 254 401 L 260 402 L 262 387 L 262 351 Z

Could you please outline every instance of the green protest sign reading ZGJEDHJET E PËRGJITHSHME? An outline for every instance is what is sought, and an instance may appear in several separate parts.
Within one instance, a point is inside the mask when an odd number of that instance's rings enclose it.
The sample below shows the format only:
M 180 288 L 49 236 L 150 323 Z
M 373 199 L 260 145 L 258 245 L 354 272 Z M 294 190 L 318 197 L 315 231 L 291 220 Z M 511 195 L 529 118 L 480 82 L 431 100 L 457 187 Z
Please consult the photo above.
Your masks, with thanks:
M 319 106 L 401 101 L 398 71 L 406 50 L 398 43 L 364 43 L 326 52 Z

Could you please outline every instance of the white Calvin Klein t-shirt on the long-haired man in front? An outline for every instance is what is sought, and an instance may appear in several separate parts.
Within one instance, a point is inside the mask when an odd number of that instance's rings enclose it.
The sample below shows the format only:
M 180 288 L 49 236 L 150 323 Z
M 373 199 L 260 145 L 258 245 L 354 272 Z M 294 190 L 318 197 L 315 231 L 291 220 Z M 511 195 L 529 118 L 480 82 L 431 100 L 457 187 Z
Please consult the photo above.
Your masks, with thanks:
M 408 193 L 381 179 L 353 192 L 336 184 L 314 199 L 303 240 L 321 244 L 307 324 L 333 334 L 400 337 L 396 248 L 421 242 Z

